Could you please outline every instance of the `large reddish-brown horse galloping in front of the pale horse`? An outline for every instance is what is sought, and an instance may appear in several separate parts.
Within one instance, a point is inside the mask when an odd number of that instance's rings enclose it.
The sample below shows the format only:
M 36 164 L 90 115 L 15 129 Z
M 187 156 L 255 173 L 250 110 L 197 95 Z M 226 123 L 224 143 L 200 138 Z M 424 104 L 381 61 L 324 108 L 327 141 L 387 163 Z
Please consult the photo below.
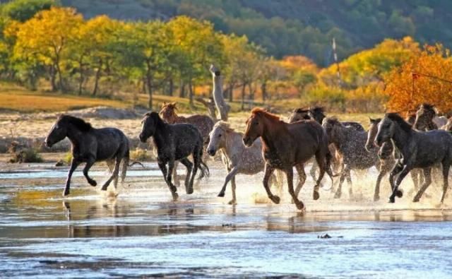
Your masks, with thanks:
M 325 172 L 331 173 L 331 153 L 328 150 L 328 138 L 322 126 L 314 120 L 285 123 L 275 114 L 263 109 L 254 108 L 251 117 L 246 120 L 246 131 L 243 136 L 245 146 L 251 146 L 257 138 L 261 138 L 263 158 L 266 160 L 263 186 L 268 198 L 273 203 L 280 203 L 280 198 L 271 193 L 268 179 L 274 170 L 283 170 L 287 175 L 289 194 L 299 210 L 304 204 L 298 199 L 302 184 L 293 187 L 293 167 L 304 172 L 304 163 L 314 155 L 320 168 L 319 178 L 314 186 L 314 200 L 319 198 L 319 186 Z

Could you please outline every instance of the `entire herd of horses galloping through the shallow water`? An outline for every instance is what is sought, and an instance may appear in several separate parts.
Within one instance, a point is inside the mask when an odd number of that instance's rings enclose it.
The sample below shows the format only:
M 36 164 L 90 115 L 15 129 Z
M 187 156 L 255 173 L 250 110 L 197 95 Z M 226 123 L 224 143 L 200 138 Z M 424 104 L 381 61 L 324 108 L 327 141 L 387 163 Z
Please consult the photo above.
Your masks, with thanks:
M 368 131 L 357 122 L 326 117 L 322 107 L 295 109 L 289 122 L 265 109 L 254 108 L 246 119 L 244 133 L 234 131 L 225 121 L 215 123 L 205 115 L 179 117 L 176 110 L 176 104 L 170 103 L 164 104 L 160 113 L 146 113 L 139 134 L 143 143 L 153 138 L 157 165 L 174 201 L 178 198 L 177 186 L 174 185 L 178 184 L 177 162 L 186 167 L 184 185 L 186 194 L 192 194 L 198 170 L 201 172 L 198 179 L 209 175 L 206 156 L 217 153 L 221 154 L 228 172 L 218 196 L 225 196 L 227 184 L 231 182 L 230 204 L 237 203 L 235 175 L 263 171 L 263 186 L 273 203 L 280 203 L 280 197 L 272 193 L 270 182 L 280 181 L 280 174 L 284 173 L 293 203 L 303 210 L 299 191 L 307 179 L 304 166 L 308 163 L 312 163 L 310 174 L 315 182 L 314 200 L 320 197 L 319 188 L 325 173 L 331 178 L 331 184 L 333 177 L 339 177 L 334 197 L 340 198 L 345 179 L 352 196 L 351 171 L 370 167 L 379 170 L 374 201 L 379 200 L 381 179 L 388 172 L 391 203 L 395 202 L 396 196 L 403 196 L 398 187 L 408 173 L 411 173 L 417 191 L 413 201 L 419 201 L 432 183 L 432 169 L 441 169 L 443 176 L 441 203 L 446 196 L 448 171 L 452 164 L 452 118 L 437 117 L 436 110 L 429 104 L 420 105 L 407 119 L 397 113 L 387 113 L 383 119 L 370 119 Z M 70 193 L 74 170 L 83 162 L 83 175 L 92 186 L 97 183 L 89 177 L 88 171 L 98 161 L 106 161 L 112 172 L 102 185 L 102 190 L 106 190 L 111 182 L 117 187 L 120 168 L 121 179 L 124 180 L 130 166 L 130 147 L 128 138 L 121 130 L 95 129 L 83 119 L 61 115 L 52 126 L 45 144 L 52 147 L 66 137 L 71 141 L 73 156 L 64 196 Z M 298 174 L 295 188 L 294 167 Z M 275 170 L 278 170 L 279 176 L 275 175 Z

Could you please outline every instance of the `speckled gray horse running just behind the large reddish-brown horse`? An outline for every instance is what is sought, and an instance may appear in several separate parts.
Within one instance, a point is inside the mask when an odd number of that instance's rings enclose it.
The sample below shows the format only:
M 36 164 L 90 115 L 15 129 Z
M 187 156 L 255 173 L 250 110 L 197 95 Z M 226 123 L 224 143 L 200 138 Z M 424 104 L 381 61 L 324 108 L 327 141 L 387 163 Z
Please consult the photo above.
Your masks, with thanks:
M 344 126 L 335 117 L 323 119 L 322 126 L 328 135 L 329 143 L 333 143 L 343 158 L 344 170 L 340 174 L 338 190 L 334 197 L 340 198 L 345 177 L 347 177 L 347 183 L 350 186 L 349 193 L 352 196 L 352 177 L 350 170 L 367 170 L 373 166 L 379 168 L 380 164 L 377 150 L 374 149 L 371 152 L 367 152 L 365 148 L 367 132 L 357 131 L 354 127 Z

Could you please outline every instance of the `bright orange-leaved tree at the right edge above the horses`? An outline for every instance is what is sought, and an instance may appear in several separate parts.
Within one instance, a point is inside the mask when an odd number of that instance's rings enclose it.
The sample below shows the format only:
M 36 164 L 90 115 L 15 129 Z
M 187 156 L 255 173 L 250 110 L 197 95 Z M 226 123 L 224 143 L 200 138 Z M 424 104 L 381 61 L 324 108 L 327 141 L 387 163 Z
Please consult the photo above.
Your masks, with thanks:
M 422 102 L 441 112 L 452 110 L 452 58 L 441 44 L 427 45 L 384 77 L 387 109 L 408 112 Z

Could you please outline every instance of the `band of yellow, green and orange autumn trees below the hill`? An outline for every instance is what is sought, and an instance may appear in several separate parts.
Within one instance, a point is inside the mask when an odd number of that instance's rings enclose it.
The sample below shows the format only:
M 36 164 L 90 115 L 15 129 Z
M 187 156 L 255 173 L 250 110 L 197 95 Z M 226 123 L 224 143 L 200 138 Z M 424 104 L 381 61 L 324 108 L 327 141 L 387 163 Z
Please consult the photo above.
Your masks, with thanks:
M 87 19 L 57 1 L 16 0 L 0 6 L 0 29 L 0 77 L 31 90 L 134 103 L 147 94 L 151 108 L 158 93 L 193 104 L 196 95 L 210 95 L 208 67 L 215 64 L 225 97 L 241 101 L 242 109 L 256 100 L 344 112 L 401 112 L 420 102 L 449 112 L 452 105 L 449 50 L 412 37 L 385 39 L 322 68 L 299 53 L 273 57 L 246 35 L 226 34 L 189 16 Z

